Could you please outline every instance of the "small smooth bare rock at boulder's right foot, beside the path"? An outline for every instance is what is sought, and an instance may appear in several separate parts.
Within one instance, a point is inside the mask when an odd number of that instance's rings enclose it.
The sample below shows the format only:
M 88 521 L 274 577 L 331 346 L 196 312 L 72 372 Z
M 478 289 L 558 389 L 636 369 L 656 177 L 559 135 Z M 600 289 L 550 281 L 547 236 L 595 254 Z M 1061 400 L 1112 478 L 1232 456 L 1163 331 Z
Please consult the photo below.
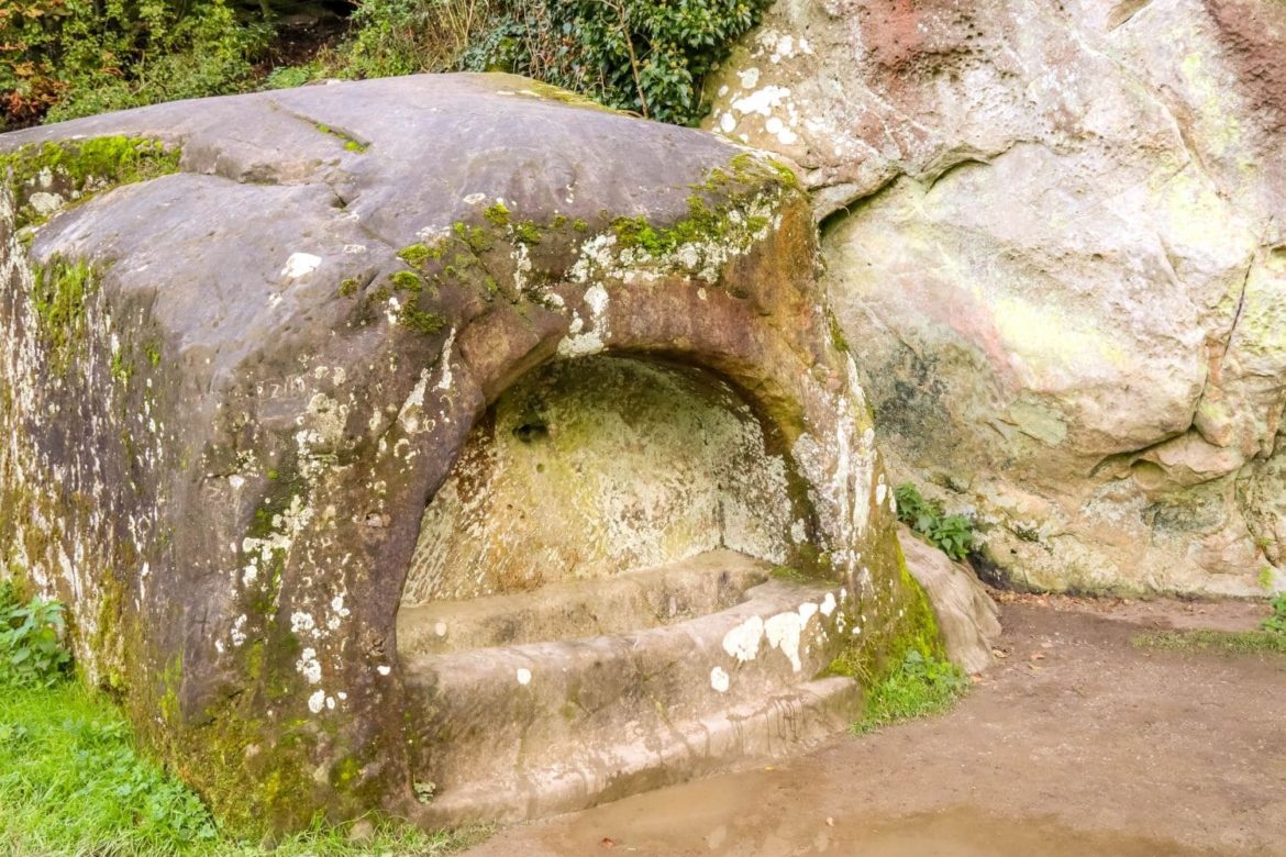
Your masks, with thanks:
M 972 569 L 952 561 L 909 527 L 898 527 L 898 541 L 907 558 L 907 570 L 934 605 L 946 657 L 970 675 L 990 667 L 992 645 L 1001 639 L 1001 608 L 986 594 L 986 587 Z

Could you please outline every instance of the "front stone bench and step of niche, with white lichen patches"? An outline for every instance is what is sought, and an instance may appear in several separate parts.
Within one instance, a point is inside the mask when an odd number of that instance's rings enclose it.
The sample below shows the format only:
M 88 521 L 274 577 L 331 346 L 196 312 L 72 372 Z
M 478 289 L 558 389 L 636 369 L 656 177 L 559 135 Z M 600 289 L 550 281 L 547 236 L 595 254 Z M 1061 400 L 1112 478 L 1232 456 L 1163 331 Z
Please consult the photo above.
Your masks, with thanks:
M 747 561 L 706 555 L 697 568 Z M 814 681 L 850 632 L 841 600 L 837 587 L 768 579 L 671 624 L 404 654 L 413 767 L 436 785 L 432 812 L 567 811 L 841 729 L 856 686 Z

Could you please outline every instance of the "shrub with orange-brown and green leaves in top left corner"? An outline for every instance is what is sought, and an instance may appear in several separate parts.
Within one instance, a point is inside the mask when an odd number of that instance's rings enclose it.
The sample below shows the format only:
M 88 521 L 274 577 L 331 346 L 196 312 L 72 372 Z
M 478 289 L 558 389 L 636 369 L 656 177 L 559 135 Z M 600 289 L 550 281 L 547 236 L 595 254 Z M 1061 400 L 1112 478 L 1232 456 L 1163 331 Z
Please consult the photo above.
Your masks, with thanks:
M 240 23 L 224 0 L 5 4 L 0 123 L 238 91 L 267 35 Z

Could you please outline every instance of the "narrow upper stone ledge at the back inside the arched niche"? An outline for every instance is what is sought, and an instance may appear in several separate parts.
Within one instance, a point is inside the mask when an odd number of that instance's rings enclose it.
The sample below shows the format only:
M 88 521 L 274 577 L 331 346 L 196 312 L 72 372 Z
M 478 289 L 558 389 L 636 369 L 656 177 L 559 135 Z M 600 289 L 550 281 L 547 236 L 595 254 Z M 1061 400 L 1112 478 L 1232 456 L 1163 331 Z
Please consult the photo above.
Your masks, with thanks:
M 730 550 L 616 577 L 531 592 L 442 600 L 397 614 L 403 657 L 577 640 L 682 622 L 743 601 L 768 564 Z

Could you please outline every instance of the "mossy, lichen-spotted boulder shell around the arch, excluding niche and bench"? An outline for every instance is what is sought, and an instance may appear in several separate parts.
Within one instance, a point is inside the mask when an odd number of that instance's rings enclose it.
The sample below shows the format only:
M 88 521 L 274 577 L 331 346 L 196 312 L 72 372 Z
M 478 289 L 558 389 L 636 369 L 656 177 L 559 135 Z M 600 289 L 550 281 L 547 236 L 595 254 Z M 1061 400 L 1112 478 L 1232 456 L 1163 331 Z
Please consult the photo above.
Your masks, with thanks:
M 59 168 L 5 203 L 0 535 L 222 815 L 410 800 L 395 619 L 421 517 L 486 405 L 556 358 L 742 391 L 867 654 L 898 636 L 891 492 L 784 167 L 508 76 L 166 104 L 0 150 L 90 140 L 165 168 L 72 182 L 21 231 Z

